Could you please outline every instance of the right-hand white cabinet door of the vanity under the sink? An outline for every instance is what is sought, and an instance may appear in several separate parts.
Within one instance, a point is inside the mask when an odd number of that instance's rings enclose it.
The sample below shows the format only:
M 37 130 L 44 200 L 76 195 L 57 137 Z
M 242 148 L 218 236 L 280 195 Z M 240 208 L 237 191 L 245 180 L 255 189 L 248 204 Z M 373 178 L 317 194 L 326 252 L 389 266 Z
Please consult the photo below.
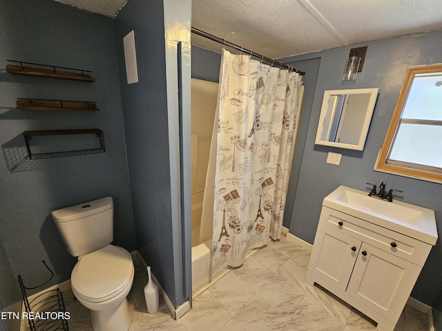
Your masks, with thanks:
M 421 267 L 363 243 L 347 294 L 396 323 Z

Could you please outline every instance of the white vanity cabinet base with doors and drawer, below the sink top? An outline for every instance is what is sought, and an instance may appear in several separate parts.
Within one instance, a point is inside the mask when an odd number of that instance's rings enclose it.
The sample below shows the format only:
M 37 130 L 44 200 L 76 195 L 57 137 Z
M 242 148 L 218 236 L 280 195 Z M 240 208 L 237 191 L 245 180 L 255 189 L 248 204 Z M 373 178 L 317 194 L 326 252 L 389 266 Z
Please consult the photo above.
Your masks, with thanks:
M 387 203 L 387 202 L 385 202 Z M 392 331 L 432 245 L 323 206 L 306 281 Z

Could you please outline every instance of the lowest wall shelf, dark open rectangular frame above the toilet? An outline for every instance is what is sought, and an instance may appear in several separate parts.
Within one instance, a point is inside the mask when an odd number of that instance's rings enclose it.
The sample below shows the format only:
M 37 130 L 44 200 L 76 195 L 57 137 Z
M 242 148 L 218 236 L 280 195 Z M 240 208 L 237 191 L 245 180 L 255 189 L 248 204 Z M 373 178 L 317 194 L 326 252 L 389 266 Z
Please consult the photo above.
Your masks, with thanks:
M 56 152 L 38 152 L 32 153 L 30 141 L 32 137 L 41 136 L 59 136 L 59 135 L 76 135 L 76 134 L 93 134 L 99 138 L 99 147 L 90 148 L 90 144 L 87 148 L 75 148 L 74 150 L 63 150 Z M 38 159 L 50 159 L 55 157 L 73 157 L 77 155 L 97 154 L 106 152 L 106 146 L 104 144 L 104 133 L 99 129 L 86 129 L 86 130 L 41 130 L 41 131 L 25 131 L 23 137 L 26 143 L 26 149 L 28 150 L 28 157 L 31 160 Z M 75 141 L 75 139 L 73 140 Z

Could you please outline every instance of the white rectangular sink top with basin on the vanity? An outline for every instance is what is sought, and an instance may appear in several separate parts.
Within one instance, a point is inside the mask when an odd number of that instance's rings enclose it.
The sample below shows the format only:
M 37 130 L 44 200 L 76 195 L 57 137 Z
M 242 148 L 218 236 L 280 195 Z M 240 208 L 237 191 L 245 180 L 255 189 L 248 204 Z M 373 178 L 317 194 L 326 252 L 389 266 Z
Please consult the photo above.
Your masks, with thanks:
M 368 192 L 339 186 L 323 201 L 326 207 L 434 245 L 437 240 L 434 211 L 402 201 L 369 197 Z

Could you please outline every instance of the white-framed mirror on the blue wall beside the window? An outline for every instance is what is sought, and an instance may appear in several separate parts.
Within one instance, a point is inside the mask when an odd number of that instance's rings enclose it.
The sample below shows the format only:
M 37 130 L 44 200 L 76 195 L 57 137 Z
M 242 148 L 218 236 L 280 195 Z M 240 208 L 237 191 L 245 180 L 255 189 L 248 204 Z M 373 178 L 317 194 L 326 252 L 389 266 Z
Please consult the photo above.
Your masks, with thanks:
M 317 145 L 363 150 L 378 88 L 324 91 Z

